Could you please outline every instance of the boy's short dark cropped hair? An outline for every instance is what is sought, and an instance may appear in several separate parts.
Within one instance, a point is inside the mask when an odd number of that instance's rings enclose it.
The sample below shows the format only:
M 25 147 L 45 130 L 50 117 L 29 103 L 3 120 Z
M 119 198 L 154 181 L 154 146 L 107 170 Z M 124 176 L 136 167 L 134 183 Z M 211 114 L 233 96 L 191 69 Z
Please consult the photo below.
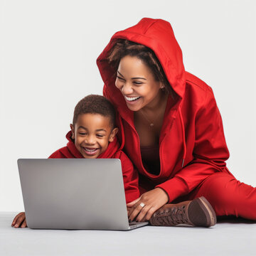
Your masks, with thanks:
M 79 114 L 101 114 L 104 117 L 110 117 L 110 124 L 114 128 L 115 110 L 114 106 L 101 95 L 88 95 L 78 102 L 75 106 L 73 125 L 78 121 Z

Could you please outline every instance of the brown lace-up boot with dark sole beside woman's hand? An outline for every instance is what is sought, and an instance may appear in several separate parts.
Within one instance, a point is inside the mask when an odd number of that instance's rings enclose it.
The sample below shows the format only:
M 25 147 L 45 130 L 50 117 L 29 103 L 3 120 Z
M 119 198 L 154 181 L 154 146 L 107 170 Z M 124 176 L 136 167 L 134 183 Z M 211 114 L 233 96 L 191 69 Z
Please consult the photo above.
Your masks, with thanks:
M 178 224 L 211 227 L 216 224 L 216 215 L 210 203 L 201 196 L 193 201 L 166 204 L 152 215 L 151 225 L 174 226 Z

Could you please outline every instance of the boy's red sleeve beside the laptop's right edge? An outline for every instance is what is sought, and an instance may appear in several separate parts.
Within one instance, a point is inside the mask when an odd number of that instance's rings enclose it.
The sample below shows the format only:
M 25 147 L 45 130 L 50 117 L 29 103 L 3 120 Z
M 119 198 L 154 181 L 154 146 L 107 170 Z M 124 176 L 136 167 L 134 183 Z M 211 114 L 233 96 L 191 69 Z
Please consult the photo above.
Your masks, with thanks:
M 123 151 L 119 151 L 119 159 L 122 164 L 122 174 L 124 179 L 124 192 L 127 203 L 139 198 L 139 175 L 132 161 Z

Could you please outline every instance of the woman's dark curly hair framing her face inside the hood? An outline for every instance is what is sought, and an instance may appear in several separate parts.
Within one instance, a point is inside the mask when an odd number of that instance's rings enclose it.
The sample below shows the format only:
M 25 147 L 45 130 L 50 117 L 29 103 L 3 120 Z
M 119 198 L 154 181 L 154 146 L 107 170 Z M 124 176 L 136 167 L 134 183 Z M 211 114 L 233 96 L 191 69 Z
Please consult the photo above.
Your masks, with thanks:
M 137 58 L 142 60 L 142 62 L 146 64 L 153 73 L 155 80 L 158 82 L 163 82 L 164 91 L 174 95 L 174 90 L 169 84 L 164 70 L 158 58 L 156 58 L 153 50 L 139 43 L 134 43 L 125 39 L 117 39 L 116 43 L 110 50 L 108 61 L 112 68 L 114 68 L 114 70 L 117 70 L 120 60 L 127 55 L 132 57 L 136 56 Z

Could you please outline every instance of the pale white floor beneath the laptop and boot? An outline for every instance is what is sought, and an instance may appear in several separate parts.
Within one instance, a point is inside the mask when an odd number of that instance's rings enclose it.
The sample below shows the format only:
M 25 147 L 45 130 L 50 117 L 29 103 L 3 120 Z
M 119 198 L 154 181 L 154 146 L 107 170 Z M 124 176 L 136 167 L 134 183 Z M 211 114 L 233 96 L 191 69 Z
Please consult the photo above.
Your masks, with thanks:
M 256 255 L 256 222 L 243 219 L 212 228 L 31 230 L 12 228 L 15 215 L 0 213 L 0 255 Z

